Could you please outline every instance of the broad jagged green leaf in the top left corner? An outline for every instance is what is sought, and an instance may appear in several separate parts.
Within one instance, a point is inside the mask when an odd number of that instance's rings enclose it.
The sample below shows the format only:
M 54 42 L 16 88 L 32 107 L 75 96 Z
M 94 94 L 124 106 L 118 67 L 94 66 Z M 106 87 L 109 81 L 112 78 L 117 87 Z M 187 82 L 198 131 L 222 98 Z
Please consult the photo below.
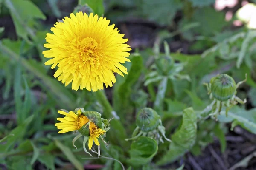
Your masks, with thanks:
M 4 2 L 9 8 L 17 35 L 25 40 L 28 40 L 28 35 L 35 36 L 30 26 L 35 26 L 34 19 L 46 19 L 41 10 L 29 0 L 4 0 Z M 29 10 L 25 12 L 24 9 Z

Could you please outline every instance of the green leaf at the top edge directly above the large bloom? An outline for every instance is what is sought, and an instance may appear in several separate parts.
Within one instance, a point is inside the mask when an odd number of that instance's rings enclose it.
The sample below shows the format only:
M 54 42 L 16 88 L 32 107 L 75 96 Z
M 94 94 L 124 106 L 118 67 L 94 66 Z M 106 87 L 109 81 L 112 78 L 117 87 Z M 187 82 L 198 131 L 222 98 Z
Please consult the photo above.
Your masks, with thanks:
M 82 6 L 88 4 L 93 9 L 94 14 L 104 15 L 103 0 L 79 0 L 78 4 Z

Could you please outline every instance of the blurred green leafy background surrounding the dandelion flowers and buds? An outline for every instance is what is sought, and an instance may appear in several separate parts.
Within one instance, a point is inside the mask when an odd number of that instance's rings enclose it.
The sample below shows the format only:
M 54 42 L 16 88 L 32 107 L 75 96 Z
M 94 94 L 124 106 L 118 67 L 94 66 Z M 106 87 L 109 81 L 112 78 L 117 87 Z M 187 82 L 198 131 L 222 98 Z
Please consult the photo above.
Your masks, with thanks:
M 1 169 L 256 169 L 255 0 L 0 0 Z M 87 4 L 87 6 L 84 6 Z M 73 11 L 93 12 L 115 23 L 134 50 L 128 75 L 97 93 L 73 91 L 53 77 L 42 55 L 46 33 Z M 164 43 L 163 43 L 164 42 Z M 218 122 L 203 83 L 226 73 L 245 105 Z M 83 107 L 111 112 L 102 156 L 88 159 L 83 140 L 59 135 L 57 111 Z M 141 108 L 154 108 L 172 142 L 145 136 L 125 141 Z M 192 108 L 188 108 L 192 107 Z M 185 109 L 185 110 L 184 110 Z M 142 143 L 147 143 L 147 146 Z M 104 146 L 104 144 L 102 145 Z M 96 154 L 95 154 L 96 157 Z M 134 160 L 137 160 L 136 162 Z

